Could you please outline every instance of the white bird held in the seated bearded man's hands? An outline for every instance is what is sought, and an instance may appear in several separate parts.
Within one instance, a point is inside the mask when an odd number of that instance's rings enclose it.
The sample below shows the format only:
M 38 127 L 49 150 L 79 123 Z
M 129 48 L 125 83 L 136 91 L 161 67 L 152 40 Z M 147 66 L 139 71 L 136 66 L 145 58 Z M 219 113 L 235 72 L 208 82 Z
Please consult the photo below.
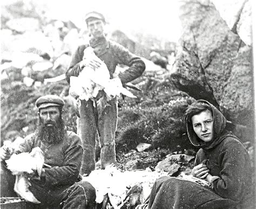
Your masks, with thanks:
M 39 147 L 35 147 L 30 153 L 14 153 L 5 162 L 11 173 L 16 175 L 14 191 L 27 201 L 40 203 L 29 190 L 29 180 L 26 174 L 37 171 L 38 178 L 41 176 L 44 164 L 43 151 Z

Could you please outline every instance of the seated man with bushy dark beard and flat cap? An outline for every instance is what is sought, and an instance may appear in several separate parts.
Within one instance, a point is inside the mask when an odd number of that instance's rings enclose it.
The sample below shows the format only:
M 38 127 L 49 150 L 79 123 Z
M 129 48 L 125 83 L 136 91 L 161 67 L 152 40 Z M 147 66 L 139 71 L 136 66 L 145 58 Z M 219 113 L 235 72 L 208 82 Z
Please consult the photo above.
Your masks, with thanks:
M 36 171 L 28 175 L 29 190 L 41 202 L 41 208 L 92 208 L 96 191 L 90 183 L 78 182 L 83 147 L 78 135 L 66 130 L 62 119 L 63 105 L 63 99 L 55 95 L 38 98 L 37 129 L 25 137 L 14 153 L 31 152 L 34 147 L 43 151 L 48 167 L 42 168 L 41 176 Z M 1 160 L 10 156 L 4 146 L 0 148 Z M 8 174 L 6 168 L 4 173 L 5 176 Z M 8 179 L 8 176 L 3 178 Z

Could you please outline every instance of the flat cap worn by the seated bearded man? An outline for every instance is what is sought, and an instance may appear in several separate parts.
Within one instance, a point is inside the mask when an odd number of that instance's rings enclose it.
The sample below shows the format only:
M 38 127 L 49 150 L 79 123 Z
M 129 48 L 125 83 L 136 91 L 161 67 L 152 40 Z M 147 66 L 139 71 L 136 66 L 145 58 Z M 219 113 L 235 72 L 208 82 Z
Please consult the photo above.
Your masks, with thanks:
M 38 109 L 42 109 L 49 106 L 63 107 L 64 104 L 65 104 L 64 100 L 57 95 L 45 95 L 45 96 L 39 97 L 36 100 L 36 106 L 38 107 Z

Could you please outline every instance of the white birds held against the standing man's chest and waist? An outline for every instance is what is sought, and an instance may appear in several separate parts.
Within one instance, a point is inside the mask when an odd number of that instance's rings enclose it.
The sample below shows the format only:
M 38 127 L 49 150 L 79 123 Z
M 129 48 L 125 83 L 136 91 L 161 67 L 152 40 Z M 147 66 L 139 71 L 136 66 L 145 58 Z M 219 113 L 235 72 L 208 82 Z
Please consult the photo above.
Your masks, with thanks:
M 130 91 L 125 89 L 119 78 L 110 79 L 110 73 L 106 64 L 99 59 L 93 49 L 89 46 L 84 50 L 85 59 L 96 60 L 100 66 L 92 68 L 84 66 L 78 77 L 70 77 L 69 93 L 72 97 L 79 97 L 80 100 L 95 99 L 100 90 L 106 93 L 106 99 L 120 97 L 123 94 L 127 97 L 136 98 Z

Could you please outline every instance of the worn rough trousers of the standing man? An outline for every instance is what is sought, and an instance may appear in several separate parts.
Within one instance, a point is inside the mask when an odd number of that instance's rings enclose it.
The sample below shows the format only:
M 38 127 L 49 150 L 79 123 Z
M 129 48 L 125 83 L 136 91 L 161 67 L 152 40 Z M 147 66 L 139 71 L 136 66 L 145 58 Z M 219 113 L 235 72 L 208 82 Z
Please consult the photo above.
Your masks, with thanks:
M 101 116 L 98 117 L 97 107 L 92 100 L 80 100 L 78 119 L 78 136 L 82 139 L 84 154 L 82 160 L 82 174 L 89 174 L 95 170 L 95 145 L 97 137 L 100 141 L 100 166 L 116 164 L 115 134 L 117 129 L 117 99 L 108 102 Z M 97 135 L 98 131 L 98 135 Z

